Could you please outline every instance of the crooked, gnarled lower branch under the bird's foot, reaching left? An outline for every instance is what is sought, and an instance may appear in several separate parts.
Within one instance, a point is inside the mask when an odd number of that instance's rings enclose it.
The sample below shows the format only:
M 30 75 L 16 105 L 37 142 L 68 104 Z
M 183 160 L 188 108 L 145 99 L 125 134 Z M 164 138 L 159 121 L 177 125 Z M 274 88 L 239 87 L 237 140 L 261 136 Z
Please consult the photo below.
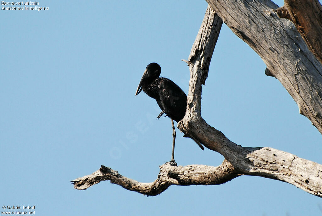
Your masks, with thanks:
M 101 165 L 101 168 L 96 172 L 77 178 L 71 183 L 74 184 L 75 189 L 86 190 L 94 184 L 109 180 L 127 190 L 156 196 L 170 185 L 216 185 L 228 182 L 238 175 L 227 160 L 217 167 L 206 165 L 171 166 L 170 163 L 166 163 L 160 166 L 160 173 L 154 182 L 141 183 Z

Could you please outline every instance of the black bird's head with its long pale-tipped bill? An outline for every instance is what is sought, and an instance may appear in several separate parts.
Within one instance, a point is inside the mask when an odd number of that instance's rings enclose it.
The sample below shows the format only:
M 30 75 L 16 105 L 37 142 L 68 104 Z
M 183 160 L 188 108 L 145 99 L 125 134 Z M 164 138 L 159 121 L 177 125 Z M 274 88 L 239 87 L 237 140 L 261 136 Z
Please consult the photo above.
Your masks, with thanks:
M 137 96 L 138 93 L 140 93 L 145 86 L 151 84 L 154 80 L 156 80 L 160 76 L 160 74 L 161 74 L 160 65 L 154 62 L 148 64 L 147 68 L 143 73 L 139 86 L 137 87 L 137 91 L 135 95 Z

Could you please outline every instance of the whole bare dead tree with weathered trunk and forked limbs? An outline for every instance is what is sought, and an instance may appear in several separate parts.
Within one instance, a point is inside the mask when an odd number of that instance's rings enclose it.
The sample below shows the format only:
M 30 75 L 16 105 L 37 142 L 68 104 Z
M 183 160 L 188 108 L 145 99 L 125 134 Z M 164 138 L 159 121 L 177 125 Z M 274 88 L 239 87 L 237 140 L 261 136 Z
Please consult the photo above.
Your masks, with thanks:
M 101 166 L 72 181 L 84 190 L 109 180 L 123 188 L 154 196 L 170 185 L 215 185 L 240 175 L 287 182 L 322 197 L 322 165 L 270 147 L 242 147 L 201 117 L 202 84 L 224 22 L 265 62 L 265 74 L 278 79 L 322 134 L 322 6 L 318 0 L 285 0 L 278 8 L 270 0 L 206 0 L 208 8 L 188 60 L 189 92 L 185 117 L 178 128 L 225 157 L 217 167 L 163 164 L 152 183 L 140 183 Z

